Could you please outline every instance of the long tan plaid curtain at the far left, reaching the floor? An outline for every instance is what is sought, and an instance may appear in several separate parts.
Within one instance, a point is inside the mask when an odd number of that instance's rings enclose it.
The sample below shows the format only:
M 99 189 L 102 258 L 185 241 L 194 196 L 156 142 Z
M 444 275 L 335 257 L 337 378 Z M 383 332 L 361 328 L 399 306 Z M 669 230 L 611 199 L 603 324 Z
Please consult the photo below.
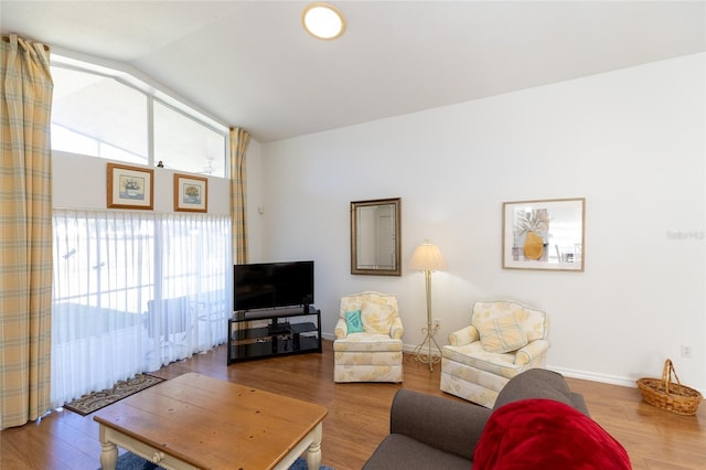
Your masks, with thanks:
M 50 408 L 54 85 L 50 52 L 0 41 L 0 429 Z

